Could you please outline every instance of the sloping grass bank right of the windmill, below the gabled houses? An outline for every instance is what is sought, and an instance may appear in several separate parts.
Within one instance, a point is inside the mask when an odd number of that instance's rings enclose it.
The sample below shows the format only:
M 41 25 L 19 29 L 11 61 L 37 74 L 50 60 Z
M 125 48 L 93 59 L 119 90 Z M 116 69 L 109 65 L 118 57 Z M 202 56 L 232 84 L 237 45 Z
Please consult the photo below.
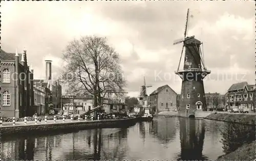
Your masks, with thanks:
M 212 113 L 204 119 L 256 125 L 256 116 L 247 114 Z

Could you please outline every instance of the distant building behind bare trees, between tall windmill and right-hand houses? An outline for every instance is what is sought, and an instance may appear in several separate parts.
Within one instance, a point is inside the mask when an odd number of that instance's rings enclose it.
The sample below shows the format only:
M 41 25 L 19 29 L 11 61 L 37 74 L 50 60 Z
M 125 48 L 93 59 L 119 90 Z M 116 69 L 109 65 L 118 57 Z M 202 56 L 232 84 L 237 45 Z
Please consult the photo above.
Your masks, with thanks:
M 205 93 L 207 111 L 212 111 L 214 108 L 225 109 L 225 95 L 220 93 Z

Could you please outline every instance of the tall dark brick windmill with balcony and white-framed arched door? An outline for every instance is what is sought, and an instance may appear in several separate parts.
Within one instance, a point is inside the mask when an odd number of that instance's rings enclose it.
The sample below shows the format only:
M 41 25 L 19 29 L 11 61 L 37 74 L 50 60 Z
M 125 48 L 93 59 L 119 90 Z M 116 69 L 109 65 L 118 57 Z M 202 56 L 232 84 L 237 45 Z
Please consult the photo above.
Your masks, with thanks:
M 179 61 L 175 74 L 182 79 L 179 114 L 185 117 L 195 117 L 197 112 L 206 111 L 207 109 L 203 79 L 207 74 L 210 74 L 210 70 L 207 70 L 204 66 L 204 57 L 200 47 L 202 45 L 203 48 L 203 44 L 195 39 L 195 36 L 186 37 L 188 15 L 189 9 L 187 9 L 184 39 L 174 43 L 175 45 L 183 42 L 180 61 L 185 47 L 183 70 L 179 69 Z

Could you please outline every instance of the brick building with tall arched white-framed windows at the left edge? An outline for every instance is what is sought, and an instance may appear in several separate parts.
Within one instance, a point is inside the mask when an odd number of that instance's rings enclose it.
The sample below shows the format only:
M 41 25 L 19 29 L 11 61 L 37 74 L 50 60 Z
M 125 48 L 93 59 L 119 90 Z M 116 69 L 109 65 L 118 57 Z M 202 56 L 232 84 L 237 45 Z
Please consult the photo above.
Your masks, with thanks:
M 28 65 L 27 51 L 8 53 L 0 49 L 0 56 L 1 117 L 32 116 L 33 69 Z

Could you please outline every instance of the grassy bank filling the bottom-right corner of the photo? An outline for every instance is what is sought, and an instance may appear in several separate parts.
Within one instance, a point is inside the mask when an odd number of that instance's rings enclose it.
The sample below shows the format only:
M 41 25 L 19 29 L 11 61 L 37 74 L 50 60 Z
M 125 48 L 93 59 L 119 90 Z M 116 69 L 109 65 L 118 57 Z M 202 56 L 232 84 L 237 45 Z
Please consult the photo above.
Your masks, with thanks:
M 237 150 L 220 156 L 217 160 L 253 160 L 255 159 L 255 142 L 244 144 Z

